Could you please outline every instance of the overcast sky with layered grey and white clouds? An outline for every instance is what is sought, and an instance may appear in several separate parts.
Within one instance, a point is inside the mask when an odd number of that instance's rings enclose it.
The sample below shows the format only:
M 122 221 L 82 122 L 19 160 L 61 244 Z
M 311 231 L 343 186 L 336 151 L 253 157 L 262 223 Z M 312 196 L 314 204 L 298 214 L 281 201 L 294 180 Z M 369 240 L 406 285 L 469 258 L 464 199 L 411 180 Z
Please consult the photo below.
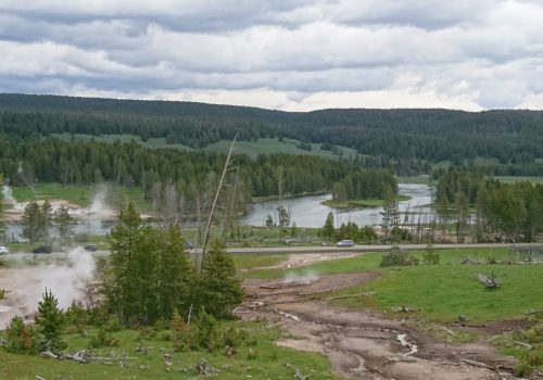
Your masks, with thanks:
M 543 109 L 538 0 L 0 0 L 0 92 Z

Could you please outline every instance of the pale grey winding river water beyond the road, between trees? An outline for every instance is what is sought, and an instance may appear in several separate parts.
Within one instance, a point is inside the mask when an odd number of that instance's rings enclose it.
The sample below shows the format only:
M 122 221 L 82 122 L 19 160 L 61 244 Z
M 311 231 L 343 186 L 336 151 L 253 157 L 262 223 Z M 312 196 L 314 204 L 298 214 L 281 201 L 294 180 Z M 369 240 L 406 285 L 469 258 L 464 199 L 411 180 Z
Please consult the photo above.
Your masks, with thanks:
M 400 212 L 404 213 L 402 218 L 405 217 L 406 213 L 412 215 L 414 211 L 417 215 L 422 215 L 422 220 L 427 221 L 433 217 L 432 208 L 425 207 L 433 202 L 433 187 L 420 183 L 400 183 L 399 190 L 401 194 L 411 197 L 411 200 L 400 202 Z M 283 199 L 282 204 L 290 212 L 291 224 L 295 223 L 298 227 L 323 227 L 330 212 L 333 213 L 338 226 L 348 221 L 354 221 L 358 226 L 379 226 L 381 224 L 382 207 L 338 210 L 321 203 L 328 199 L 331 199 L 331 194 L 294 197 Z M 241 218 L 240 224 L 243 226 L 264 226 L 268 215 L 277 218 L 278 206 L 278 200 L 256 203 L 251 212 Z

